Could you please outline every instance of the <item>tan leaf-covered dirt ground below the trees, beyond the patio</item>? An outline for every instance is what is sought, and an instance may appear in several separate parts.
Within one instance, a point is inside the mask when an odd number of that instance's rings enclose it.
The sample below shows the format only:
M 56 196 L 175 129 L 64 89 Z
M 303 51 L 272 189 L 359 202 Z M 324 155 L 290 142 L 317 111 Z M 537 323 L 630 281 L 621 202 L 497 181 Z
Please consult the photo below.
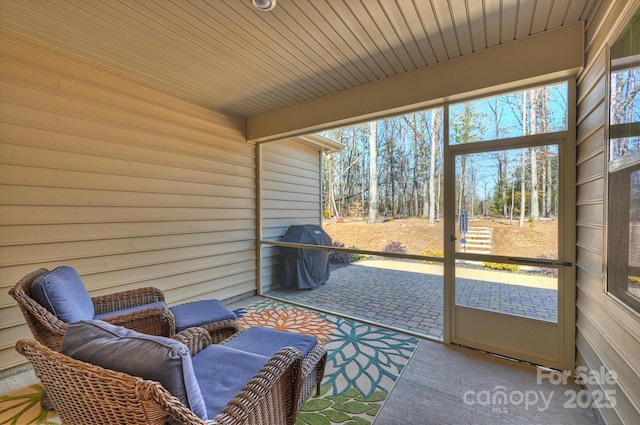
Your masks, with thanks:
M 508 219 L 470 220 L 469 227 L 493 228 L 493 254 L 529 258 L 556 258 L 558 223 L 544 220 L 526 222 L 518 227 L 518 221 Z M 457 226 L 456 226 L 457 227 Z M 425 219 L 394 219 L 369 224 L 363 220 L 345 220 L 336 223 L 327 220 L 324 230 L 334 243 L 347 248 L 383 251 L 391 242 L 400 242 L 408 254 L 422 254 L 426 249 L 443 248 L 443 222 L 429 226 Z M 458 236 L 458 235 L 456 235 Z

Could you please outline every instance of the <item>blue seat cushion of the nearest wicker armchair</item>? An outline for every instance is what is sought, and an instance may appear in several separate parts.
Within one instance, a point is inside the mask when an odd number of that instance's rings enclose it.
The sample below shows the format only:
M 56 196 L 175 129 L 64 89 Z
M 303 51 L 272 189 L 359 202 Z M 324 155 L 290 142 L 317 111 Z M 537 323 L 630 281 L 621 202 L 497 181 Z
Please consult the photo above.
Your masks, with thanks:
M 269 361 L 225 345 L 209 345 L 192 357 L 193 370 L 210 418 L 222 410 Z

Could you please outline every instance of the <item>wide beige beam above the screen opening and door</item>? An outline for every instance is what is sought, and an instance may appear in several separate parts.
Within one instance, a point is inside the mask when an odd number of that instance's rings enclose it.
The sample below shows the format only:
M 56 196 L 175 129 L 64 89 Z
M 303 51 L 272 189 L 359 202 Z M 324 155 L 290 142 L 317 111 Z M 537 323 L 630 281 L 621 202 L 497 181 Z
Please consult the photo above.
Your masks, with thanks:
M 582 22 L 247 119 L 247 140 L 265 142 L 428 108 L 462 96 L 576 75 Z

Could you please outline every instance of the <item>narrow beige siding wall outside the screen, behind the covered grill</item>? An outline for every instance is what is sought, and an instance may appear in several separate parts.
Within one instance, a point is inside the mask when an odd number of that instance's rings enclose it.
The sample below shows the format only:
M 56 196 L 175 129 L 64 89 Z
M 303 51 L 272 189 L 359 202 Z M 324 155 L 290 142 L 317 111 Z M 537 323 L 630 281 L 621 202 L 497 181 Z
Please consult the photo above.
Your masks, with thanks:
M 280 240 L 291 225 L 321 224 L 320 151 L 293 140 L 262 149 L 262 238 Z M 262 248 L 262 291 L 278 286 L 280 249 Z

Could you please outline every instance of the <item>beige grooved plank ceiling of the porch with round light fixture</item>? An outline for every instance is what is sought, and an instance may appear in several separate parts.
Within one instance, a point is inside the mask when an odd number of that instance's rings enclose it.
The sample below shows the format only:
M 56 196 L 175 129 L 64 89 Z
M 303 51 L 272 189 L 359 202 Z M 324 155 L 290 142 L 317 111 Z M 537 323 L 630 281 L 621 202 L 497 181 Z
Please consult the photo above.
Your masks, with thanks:
M 249 117 L 588 20 L 603 0 L 0 0 L 0 27 Z

